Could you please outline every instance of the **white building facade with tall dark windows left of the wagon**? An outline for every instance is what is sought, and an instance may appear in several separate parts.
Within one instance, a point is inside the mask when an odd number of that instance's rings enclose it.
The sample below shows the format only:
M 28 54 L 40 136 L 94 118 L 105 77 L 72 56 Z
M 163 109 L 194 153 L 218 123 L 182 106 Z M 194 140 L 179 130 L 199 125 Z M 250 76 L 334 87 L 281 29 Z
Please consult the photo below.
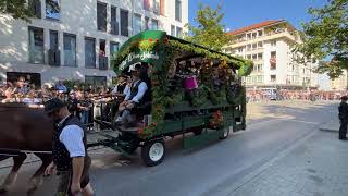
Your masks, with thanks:
M 147 29 L 181 36 L 188 0 L 28 0 L 29 23 L 0 15 L 0 79 L 110 84 L 113 53 Z

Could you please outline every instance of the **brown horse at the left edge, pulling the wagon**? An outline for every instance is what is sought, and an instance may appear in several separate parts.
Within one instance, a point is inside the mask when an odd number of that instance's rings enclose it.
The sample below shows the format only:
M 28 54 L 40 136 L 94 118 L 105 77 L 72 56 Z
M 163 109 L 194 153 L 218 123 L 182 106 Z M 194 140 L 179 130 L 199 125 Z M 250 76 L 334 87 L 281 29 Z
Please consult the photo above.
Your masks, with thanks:
M 53 123 L 42 108 L 30 108 L 22 103 L 0 103 L 0 161 L 13 158 L 13 167 L 0 192 L 10 191 L 18 170 L 26 159 L 22 151 L 34 151 L 42 164 L 28 184 L 27 195 L 42 184 L 44 173 L 51 162 Z

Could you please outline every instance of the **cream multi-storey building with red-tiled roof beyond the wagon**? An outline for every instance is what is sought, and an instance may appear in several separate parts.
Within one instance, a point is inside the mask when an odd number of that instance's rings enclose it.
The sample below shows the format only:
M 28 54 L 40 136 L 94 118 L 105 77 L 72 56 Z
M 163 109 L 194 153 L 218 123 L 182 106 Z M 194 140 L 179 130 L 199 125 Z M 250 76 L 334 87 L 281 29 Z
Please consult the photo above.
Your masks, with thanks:
M 254 62 L 252 73 L 244 78 L 248 88 L 318 88 L 318 74 L 312 72 L 316 63 L 294 61 L 291 47 L 300 40 L 297 29 L 287 21 L 265 21 L 228 35 L 233 40 L 224 51 Z

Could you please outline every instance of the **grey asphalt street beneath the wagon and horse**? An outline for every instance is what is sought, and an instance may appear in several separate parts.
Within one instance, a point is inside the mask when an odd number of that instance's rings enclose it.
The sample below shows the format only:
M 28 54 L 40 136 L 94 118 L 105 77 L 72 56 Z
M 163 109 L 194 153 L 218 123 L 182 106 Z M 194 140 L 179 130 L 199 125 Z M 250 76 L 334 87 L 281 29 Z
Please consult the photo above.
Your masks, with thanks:
M 145 167 L 137 156 L 126 159 L 108 149 L 92 151 L 96 195 L 228 195 L 246 176 L 286 156 L 337 115 L 336 102 L 286 101 L 252 103 L 249 108 L 247 131 L 194 150 L 182 149 L 179 137 L 170 139 L 165 160 L 158 167 Z M 4 196 L 25 195 L 26 182 L 37 166 L 24 166 L 17 184 Z M 8 172 L 9 168 L 0 169 L 0 181 Z M 37 195 L 52 195 L 54 186 L 54 176 L 47 177 Z

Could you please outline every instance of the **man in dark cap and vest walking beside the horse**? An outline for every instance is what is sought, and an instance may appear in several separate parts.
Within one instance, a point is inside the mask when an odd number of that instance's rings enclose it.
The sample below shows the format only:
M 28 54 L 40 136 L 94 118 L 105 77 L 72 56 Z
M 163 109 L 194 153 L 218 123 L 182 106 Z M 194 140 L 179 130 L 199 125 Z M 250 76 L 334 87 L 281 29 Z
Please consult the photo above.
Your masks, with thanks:
M 91 159 L 87 154 L 84 125 L 58 98 L 48 100 L 45 103 L 45 111 L 54 121 L 53 161 L 45 173 L 51 174 L 57 169 L 59 174 L 57 195 L 72 196 L 78 193 L 84 196 L 94 195 L 88 174 Z

